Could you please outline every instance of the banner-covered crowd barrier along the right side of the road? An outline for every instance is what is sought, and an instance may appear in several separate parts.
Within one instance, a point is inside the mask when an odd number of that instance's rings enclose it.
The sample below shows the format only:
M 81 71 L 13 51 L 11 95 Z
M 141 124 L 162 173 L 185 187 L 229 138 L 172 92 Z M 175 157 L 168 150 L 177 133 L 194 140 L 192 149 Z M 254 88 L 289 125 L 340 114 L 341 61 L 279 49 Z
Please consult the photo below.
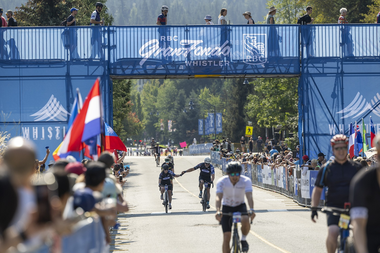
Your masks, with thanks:
M 223 174 L 226 173 L 226 158 L 220 159 L 218 152 L 211 152 L 211 163 L 220 165 Z M 252 180 L 252 185 L 281 193 L 288 198 L 292 198 L 302 206 L 311 207 L 311 195 L 315 186 L 318 171 L 307 171 L 302 175 L 300 167 L 291 170 L 291 175 L 287 169 L 280 166 L 271 169 L 268 165 L 242 164 L 242 174 Z M 322 191 L 320 207 L 325 204 L 326 188 Z

